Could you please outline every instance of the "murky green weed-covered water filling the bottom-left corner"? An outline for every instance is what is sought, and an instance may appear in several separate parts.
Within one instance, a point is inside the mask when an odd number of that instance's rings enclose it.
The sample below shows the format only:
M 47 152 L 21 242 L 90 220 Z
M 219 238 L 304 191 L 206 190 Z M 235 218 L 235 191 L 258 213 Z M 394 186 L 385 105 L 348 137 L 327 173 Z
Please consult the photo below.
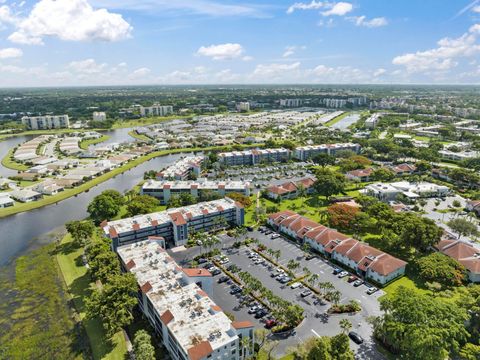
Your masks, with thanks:
M 90 358 L 88 339 L 76 326 L 55 256 L 55 244 L 19 257 L 0 274 L 0 358 Z

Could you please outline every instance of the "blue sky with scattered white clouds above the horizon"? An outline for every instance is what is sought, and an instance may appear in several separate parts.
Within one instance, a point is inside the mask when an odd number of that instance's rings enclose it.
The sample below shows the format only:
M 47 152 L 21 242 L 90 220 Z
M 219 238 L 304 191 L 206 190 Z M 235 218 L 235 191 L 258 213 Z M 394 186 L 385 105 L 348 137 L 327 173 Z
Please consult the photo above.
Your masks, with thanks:
M 480 0 L 0 0 L 0 87 L 479 84 Z

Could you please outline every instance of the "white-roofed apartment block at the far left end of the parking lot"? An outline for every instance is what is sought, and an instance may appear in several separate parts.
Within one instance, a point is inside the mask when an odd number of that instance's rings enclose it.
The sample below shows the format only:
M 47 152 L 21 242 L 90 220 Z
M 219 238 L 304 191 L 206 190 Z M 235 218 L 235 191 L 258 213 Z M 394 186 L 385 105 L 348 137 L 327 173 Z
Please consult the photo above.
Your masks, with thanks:
M 242 226 L 243 206 L 224 198 L 182 208 L 168 209 L 127 219 L 103 222 L 105 236 L 112 247 L 143 241 L 149 236 L 161 236 L 170 246 L 185 245 L 192 231 L 210 231 L 225 226 Z

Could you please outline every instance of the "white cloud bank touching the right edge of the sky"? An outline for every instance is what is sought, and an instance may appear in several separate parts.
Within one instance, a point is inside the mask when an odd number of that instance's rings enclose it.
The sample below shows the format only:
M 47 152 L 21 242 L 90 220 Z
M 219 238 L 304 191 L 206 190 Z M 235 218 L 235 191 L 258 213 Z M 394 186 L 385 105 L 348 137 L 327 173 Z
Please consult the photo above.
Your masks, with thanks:
M 404 66 L 410 73 L 447 71 L 458 65 L 458 59 L 480 53 L 480 45 L 477 43 L 479 34 L 480 24 L 476 24 L 456 39 L 441 39 L 435 49 L 400 55 L 395 57 L 392 63 Z

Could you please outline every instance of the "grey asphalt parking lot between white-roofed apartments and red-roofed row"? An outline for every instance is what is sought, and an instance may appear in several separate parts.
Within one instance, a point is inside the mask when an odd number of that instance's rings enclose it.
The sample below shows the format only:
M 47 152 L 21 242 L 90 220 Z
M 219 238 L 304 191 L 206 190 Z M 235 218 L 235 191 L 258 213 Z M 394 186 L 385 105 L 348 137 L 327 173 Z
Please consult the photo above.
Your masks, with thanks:
M 224 265 L 225 267 L 235 264 L 238 266 L 238 268 L 240 268 L 240 271 L 248 271 L 252 276 L 260 280 L 262 284 L 269 288 L 274 294 L 282 297 L 285 300 L 291 301 L 292 303 L 296 303 L 304 309 L 305 320 L 300 324 L 300 326 L 297 327 L 294 335 L 286 338 L 274 337 L 274 339 L 279 340 L 279 346 L 276 348 L 277 355 L 284 354 L 289 347 L 295 346 L 296 344 L 313 336 L 332 336 L 340 333 L 342 330 L 339 322 L 341 319 L 346 318 L 352 323 L 352 330 L 360 334 L 363 339 L 365 339 L 365 342 L 360 346 L 351 342 L 352 348 L 356 351 L 357 358 L 383 359 L 383 356 L 375 349 L 374 343 L 371 339 L 372 329 L 370 324 L 367 322 L 367 318 L 369 316 L 380 314 L 378 297 L 383 294 L 381 291 L 378 291 L 372 295 L 367 295 L 367 287 L 365 285 L 354 287 L 351 283 L 347 282 L 347 278 L 339 279 L 338 276 L 332 274 L 334 266 L 320 258 L 315 258 L 309 261 L 305 260 L 303 251 L 300 250 L 295 244 L 290 243 L 283 238 L 272 240 L 270 236 L 262 234 L 258 231 L 249 232 L 248 236 L 258 239 L 260 243 L 269 248 L 280 249 L 281 256 L 279 262 L 282 265 L 285 266 L 290 259 L 295 259 L 301 264 L 300 269 L 306 266 L 312 273 L 319 275 L 319 281 L 329 281 L 333 283 L 335 288 L 342 294 L 340 303 L 347 303 L 350 300 L 355 299 L 361 304 L 362 307 L 362 310 L 357 314 L 335 314 L 327 316 L 325 312 L 330 307 L 330 303 L 327 303 L 326 305 L 315 305 L 313 301 L 313 295 L 303 298 L 300 296 L 300 294 L 305 290 L 305 288 L 299 287 L 292 289 L 290 286 L 281 284 L 277 280 L 273 279 L 270 274 L 274 270 L 269 270 L 269 267 L 274 269 L 273 266 L 269 266 L 272 264 L 268 262 L 266 264 L 255 264 L 254 261 L 248 258 L 247 253 L 250 251 L 249 248 L 243 246 L 240 249 L 234 249 L 231 247 L 233 240 L 229 239 L 227 236 L 224 236 L 224 242 L 222 243 L 222 254 L 228 257 L 229 260 L 229 262 Z M 188 256 L 186 256 L 186 254 L 192 251 L 192 249 L 187 249 L 183 253 L 176 254 L 176 257 L 180 261 L 187 261 Z M 192 252 L 192 254 L 198 255 L 198 250 L 195 253 Z M 299 271 L 299 273 L 301 273 L 301 271 Z M 254 314 L 249 314 L 249 306 L 242 305 L 239 299 L 242 294 L 232 295 L 230 294 L 230 284 L 226 282 L 218 283 L 218 280 L 223 275 L 224 274 L 221 273 L 215 276 L 212 299 L 225 312 L 233 314 L 236 320 L 250 320 L 254 322 L 257 327 L 264 327 L 265 320 L 268 317 L 256 319 Z

